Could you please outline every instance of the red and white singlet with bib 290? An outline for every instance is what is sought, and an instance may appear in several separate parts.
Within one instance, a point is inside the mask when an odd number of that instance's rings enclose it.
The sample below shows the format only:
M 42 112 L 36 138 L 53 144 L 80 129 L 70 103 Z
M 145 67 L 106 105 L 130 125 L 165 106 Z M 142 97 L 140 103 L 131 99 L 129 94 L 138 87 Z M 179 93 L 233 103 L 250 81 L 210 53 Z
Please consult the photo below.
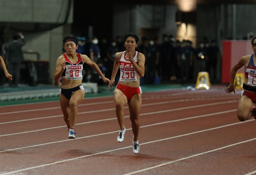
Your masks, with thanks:
M 119 60 L 120 68 L 120 81 L 137 81 L 137 72 L 135 71 L 132 63 L 125 59 L 126 51 L 124 51 Z M 138 55 L 139 52 L 135 51 L 133 60 L 138 64 Z

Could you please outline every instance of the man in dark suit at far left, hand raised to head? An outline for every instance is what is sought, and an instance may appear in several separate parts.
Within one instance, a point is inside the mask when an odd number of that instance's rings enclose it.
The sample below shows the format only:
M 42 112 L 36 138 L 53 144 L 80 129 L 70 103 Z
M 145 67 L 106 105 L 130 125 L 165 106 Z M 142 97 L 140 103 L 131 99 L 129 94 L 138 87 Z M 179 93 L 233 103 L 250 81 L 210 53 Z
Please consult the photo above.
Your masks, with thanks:
M 20 67 L 21 61 L 24 59 L 21 48 L 24 45 L 24 36 L 20 32 L 18 34 L 13 35 L 13 42 L 9 44 L 7 49 L 7 61 L 9 63 L 9 72 L 13 75 L 14 78 L 14 81 L 10 81 L 11 87 L 18 87 L 20 83 Z

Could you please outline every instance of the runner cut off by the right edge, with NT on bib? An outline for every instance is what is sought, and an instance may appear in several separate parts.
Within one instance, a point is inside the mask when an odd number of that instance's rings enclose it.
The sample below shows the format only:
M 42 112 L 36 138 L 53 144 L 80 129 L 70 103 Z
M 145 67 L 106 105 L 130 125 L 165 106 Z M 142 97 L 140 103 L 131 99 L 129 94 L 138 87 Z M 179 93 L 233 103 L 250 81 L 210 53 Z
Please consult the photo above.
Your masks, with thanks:
M 234 65 L 230 73 L 230 85 L 224 88 L 227 93 L 233 91 L 236 93 L 234 88 L 236 71 L 245 66 L 243 91 L 237 108 L 237 117 L 240 121 L 248 120 L 252 116 L 256 120 L 256 108 L 253 107 L 253 103 L 256 103 L 256 36 L 252 38 L 252 50 L 254 54 L 242 57 Z

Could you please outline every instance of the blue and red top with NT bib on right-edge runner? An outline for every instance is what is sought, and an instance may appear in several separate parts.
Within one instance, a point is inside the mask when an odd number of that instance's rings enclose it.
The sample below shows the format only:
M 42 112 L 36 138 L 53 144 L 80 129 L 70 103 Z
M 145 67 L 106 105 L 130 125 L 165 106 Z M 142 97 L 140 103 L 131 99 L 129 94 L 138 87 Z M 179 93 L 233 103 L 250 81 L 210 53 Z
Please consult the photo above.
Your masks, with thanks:
M 253 56 L 254 54 L 252 54 L 249 64 L 244 71 L 245 78 L 248 79 L 247 84 L 250 86 L 256 86 L 256 66 L 253 62 Z

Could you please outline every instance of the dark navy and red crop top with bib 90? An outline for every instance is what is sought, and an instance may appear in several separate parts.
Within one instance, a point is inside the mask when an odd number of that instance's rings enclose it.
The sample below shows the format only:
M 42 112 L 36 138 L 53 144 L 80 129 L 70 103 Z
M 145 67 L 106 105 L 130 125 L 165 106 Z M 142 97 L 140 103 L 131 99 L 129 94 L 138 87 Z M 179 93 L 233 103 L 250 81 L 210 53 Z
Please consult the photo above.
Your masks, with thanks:
M 66 61 L 66 68 L 61 76 L 65 76 L 67 80 L 80 80 L 83 79 L 83 61 L 79 53 L 77 53 L 78 60 L 76 64 L 69 61 L 66 54 L 63 54 Z

